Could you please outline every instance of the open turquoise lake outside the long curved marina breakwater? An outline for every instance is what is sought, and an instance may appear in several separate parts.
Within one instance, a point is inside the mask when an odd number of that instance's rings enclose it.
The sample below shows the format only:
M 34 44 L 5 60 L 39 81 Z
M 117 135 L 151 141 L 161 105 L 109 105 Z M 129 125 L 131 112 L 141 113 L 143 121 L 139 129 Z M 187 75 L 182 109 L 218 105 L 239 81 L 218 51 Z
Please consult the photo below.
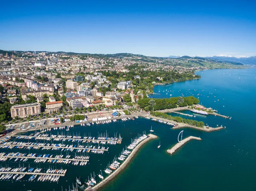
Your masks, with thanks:
M 203 105 L 232 117 L 229 120 L 197 115 L 195 119 L 227 128 L 211 133 L 186 128 L 183 137 L 200 136 L 202 141 L 193 140 L 168 155 L 165 151 L 177 143 L 180 130 L 157 124 L 154 133 L 160 137 L 160 149 L 157 140 L 147 143 L 131 165 L 102 190 L 256 190 L 256 69 L 210 70 L 198 74 L 199 80 L 155 86 L 154 92 L 160 94 L 154 97 L 194 94 Z

